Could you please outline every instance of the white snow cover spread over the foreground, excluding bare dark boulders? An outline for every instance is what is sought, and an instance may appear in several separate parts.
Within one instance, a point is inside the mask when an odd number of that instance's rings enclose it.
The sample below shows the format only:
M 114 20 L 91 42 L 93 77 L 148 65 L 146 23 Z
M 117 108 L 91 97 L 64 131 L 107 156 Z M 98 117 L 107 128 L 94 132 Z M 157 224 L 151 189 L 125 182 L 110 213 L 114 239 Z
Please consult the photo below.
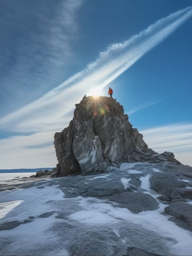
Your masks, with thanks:
M 192 255 L 192 233 L 169 221 L 170 215 L 161 214 L 167 205 L 149 185 L 149 177 L 158 172 L 154 169 L 150 164 L 125 163 L 107 174 L 4 181 L 3 185 L 16 188 L 0 192 L 0 225 L 34 218 L 0 231 L 0 255 L 70 255 L 76 246 L 75 255 L 82 255 L 83 250 L 85 255 L 95 255 L 91 239 L 96 243 L 100 232 L 111 237 L 106 236 L 106 244 L 100 245 L 99 250 L 108 253 L 104 255 L 122 255 L 131 246 L 160 255 Z M 140 177 L 140 190 L 158 201 L 158 209 L 135 214 L 107 197 L 76 192 L 81 186 L 100 188 L 107 182 L 122 182 L 126 188 L 133 177 Z M 87 245 L 86 236 L 90 239 Z M 114 244 L 119 254 L 114 252 Z

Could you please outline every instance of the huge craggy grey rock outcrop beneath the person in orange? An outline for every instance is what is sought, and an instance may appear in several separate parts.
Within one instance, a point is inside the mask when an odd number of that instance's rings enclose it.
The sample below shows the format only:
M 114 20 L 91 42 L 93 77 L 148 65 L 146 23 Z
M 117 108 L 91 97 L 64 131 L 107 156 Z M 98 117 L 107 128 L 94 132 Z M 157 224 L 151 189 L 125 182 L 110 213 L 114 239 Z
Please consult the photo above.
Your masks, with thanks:
M 69 126 L 54 138 L 57 176 L 101 173 L 125 161 L 180 164 L 173 153 L 149 149 L 143 135 L 132 128 L 123 106 L 110 97 L 84 96 Z

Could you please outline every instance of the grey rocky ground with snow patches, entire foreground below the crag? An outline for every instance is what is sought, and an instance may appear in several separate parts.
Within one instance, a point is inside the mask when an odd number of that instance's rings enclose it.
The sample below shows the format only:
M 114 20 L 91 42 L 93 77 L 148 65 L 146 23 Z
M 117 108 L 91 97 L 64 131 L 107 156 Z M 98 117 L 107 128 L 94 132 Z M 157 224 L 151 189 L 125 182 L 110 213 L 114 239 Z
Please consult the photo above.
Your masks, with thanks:
M 191 255 L 192 201 L 174 195 L 190 190 L 191 173 L 165 162 L 123 163 L 99 175 L 1 181 L 0 255 Z M 150 177 L 161 182 L 156 174 L 173 194 L 150 187 Z

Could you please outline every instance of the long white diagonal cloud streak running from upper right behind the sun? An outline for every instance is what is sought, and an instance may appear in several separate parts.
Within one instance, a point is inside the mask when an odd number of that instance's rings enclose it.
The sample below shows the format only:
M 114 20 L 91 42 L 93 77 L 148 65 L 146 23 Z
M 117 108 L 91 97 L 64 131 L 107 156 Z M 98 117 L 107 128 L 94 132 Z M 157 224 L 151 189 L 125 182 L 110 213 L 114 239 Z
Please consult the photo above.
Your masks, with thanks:
M 149 50 L 157 46 L 192 16 L 188 7 L 158 20 L 146 30 L 128 41 L 110 45 L 100 57 L 77 74 L 52 89 L 38 100 L 0 119 L 1 128 L 14 123 L 15 131 L 50 130 L 61 124 L 61 119 L 73 109 L 84 94 L 91 94 L 90 87 L 97 91 L 125 72 Z

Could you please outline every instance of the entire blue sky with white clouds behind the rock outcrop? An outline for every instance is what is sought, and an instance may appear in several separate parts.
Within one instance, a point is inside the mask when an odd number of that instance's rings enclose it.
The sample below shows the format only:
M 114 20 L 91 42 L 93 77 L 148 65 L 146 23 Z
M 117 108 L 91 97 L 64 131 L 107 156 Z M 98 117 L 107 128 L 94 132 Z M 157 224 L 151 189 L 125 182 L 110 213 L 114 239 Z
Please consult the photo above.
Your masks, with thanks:
M 57 163 L 53 135 L 108 87 L 158 152 L 192 165 L 191 1 L 1 1 L 0 169 Z

